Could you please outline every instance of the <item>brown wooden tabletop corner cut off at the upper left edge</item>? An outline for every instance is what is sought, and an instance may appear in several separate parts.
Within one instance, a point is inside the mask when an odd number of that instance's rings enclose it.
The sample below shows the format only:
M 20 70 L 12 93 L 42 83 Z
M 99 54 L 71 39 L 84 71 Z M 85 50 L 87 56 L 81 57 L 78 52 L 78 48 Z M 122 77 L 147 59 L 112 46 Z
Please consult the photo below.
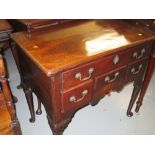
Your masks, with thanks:
M 11 25 L 5 19 L 0 19 L 0 33 L 10 31 L 12 31 Z

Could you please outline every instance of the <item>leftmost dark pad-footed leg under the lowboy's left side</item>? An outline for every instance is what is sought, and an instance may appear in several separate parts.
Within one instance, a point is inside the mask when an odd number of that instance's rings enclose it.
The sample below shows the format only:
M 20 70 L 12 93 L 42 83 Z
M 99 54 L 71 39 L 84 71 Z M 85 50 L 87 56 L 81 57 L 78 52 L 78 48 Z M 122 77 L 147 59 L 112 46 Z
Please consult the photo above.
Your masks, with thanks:
M 32 90 L 30 88 L 24 88 L 23 90 L 24 90 L 25 97 L 31 114 L 31 118 L 29 119 L 29 121 L 33 123 L 35 122 L 35 112 L 34 112 Z

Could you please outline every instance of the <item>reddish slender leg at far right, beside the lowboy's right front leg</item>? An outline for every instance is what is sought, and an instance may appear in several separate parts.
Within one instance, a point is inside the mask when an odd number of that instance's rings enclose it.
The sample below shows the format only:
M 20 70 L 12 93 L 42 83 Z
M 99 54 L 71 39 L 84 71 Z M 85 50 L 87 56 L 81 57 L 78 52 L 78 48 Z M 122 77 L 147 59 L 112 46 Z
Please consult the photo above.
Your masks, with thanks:
M 139 95 L 139 98 L 137 101 L 137 106 L 136 106 L 135 112 L 138 112 L 140 107 L 142 106 L 143 98 L 144 98 L 144 95 L 145 95 L 146 90 L 148 88 L 149 82 L 151 80 L 151 77 L 152 77 L 152 74 L 154 71 L 154 67 L 155 67 L 155 54 L 154 54 L 154 56 L 153 55 L 151 56 L 150 62 L 148 64 L 146 74 L 144 77 L 144 81 L 142 83 L 141 92 L 140 92 L 140 95 Z

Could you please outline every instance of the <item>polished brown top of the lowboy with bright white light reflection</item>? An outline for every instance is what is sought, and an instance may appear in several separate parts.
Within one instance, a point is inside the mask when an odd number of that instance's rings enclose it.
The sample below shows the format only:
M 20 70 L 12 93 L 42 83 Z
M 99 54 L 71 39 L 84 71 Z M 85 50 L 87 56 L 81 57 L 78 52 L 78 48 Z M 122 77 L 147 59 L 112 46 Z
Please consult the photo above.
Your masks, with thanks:
M 11 37 L 47 76 L 155 39 L 153 32 L 122 20 L 75 21 L 47 33 Z

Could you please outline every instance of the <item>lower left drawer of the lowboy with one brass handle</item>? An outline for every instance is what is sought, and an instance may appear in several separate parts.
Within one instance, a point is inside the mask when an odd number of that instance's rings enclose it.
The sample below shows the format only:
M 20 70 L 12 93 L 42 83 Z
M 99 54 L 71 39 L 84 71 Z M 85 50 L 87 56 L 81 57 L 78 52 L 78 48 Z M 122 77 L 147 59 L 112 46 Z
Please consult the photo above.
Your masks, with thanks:
M 93 80 L 62 93 L 62 112 L 78 109 L 87 105 L 92 98 Z

